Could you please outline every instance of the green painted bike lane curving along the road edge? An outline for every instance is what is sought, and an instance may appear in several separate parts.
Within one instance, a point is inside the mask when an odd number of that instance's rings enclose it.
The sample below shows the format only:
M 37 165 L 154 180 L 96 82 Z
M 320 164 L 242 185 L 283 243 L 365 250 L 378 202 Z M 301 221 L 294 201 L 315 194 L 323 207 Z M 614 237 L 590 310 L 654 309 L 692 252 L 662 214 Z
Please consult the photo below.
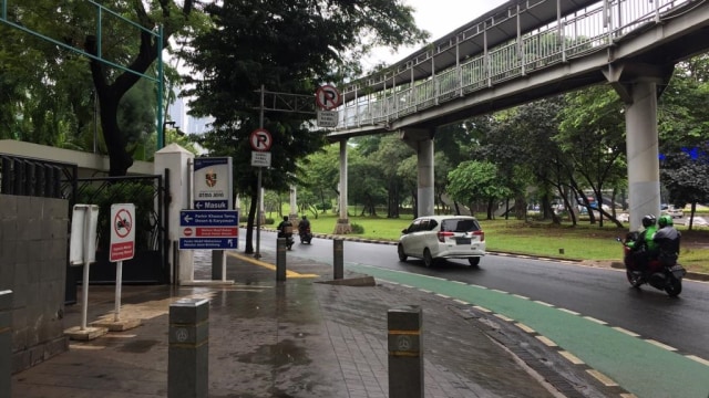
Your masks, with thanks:
M 709 364 L 602 321 L 484 286 L 377 266 L 351 263 L 346 266 L 376 279 L 484 307 L 521 323 L 637 397 L 709 398 Z

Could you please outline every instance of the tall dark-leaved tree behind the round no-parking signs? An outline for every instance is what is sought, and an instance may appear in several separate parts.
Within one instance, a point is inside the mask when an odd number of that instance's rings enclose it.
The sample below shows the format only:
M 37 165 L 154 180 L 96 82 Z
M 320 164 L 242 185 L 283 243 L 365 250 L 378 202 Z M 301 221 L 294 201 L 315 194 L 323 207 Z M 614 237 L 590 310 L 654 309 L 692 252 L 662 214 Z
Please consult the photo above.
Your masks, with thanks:
M 213 155 L 232 155 L 235 186 L 251 197 L 245 252 L 253 252 L 257 174 L 248 164 L 248 135 L 261 121 L 255 92 L 312 95 L 325 82 L 358 71 L 372 44 L 397 48 L 421 41 L 412 9 L 401 1 L 227 0 L 205 8 L 214 29 L 197 34 L 183 52 L 194 72 L 186 96 L 192 114 L 214 117 L 214 130 L 199 144 Z M 327 32 L 325 34 L 323 32 Z M 312 115 L 267 113 L 263 126 L 274 136 L 271 168 L 264 187 L 282 190 L 298 182 L 299 160 L 319 149 L 323 134 L 310 129 Z

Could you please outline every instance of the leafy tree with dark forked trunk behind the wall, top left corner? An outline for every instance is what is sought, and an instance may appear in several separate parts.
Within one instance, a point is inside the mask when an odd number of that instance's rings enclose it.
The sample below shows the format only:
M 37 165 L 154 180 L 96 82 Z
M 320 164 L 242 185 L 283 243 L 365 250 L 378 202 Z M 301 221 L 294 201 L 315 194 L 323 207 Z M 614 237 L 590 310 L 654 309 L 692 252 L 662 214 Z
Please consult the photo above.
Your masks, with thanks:
M 72 149 L 86 149 L 94 133 L 100 132 L 110 156 L 110 175 L 123 176 L 133 164 L 132 153 L 142 145 L 135 138 L 145 142 L 155 132 L 155 84 L 138 87 L 141 95 L 126 96 L 142 81 L 136 73 L 156 75 L 158 40 L 148 32 L 164 27 L 162 45 L 168 48 L 173 35 L 187 29 L 195 31 L 199 23 L 193 13 L 194 0 L 113 0 L 102 4 L 111 12 L 102 11 L 100 23 L 95 2 L 37 0 L 13 4 L 8 20 L 66 48 L 0 24 L 3 38 L 10 39 L 0 43 L 0 92 L 9 94 L 0 95 L 0 125 L 9 126 L 10 138 Z M 145 90 L 152 94 L 144 95 Z M 94 98 L 101 128 L 94 122 Z M 150 125 L 146 118 L 152 118 Z

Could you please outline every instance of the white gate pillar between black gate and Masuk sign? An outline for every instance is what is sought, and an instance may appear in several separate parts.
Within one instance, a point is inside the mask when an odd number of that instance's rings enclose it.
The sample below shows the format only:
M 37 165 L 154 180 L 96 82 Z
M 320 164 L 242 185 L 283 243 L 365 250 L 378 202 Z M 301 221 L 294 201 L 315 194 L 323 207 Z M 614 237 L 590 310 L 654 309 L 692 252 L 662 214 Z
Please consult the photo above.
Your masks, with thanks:
M 173 244 L 179 241 L 179 210 L 191 209 L 191 180 L 192 170 L 188 163 L 195 155 L 177 144 L 169 144 L 155 153 L 155 174 L 163 176 L 165 169 L 169 169 L 169 189 L 167 193 L 172 198 L 169 206 L 165 209 L 165 217 L 169 219 L 167 237 Z M 175 264 L 179 264 L 177 283 L 194 280 L 194 252 L 192 250 L 169 251 L 168 262 L 172 264 L 172 273 L 175 272 Z M 175 259 L 177 256 L 177 259 Z

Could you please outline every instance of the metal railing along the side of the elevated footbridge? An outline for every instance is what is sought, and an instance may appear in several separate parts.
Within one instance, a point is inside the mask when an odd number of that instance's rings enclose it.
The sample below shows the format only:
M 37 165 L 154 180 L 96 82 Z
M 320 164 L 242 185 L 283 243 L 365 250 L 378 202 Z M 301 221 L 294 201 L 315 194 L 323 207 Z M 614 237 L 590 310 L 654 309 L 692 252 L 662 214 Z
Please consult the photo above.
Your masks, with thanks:
M 557 0 L 528 0 L 494 18 L 483 18 L 464 31 L 393 65 L 345 86 L 337 130 L 388 125 L 407 115 L 444 102 L 525 76 L 535 71 L 568 62 L 585 54 L 606 50 L 628 34 L 661 23 L 678 10 L 689 11 L 691 0 L 604 0 L 588 2 L 580 10 L 562 14 Z M 553 4 L 555 18 L 545 25 L 522 31 L 522 21 L 535 10 Z M 528 21 L 528 20 L 527 20 Z M 487 34 L 513 27 L 516 35 L 489 46 Z M 527 24 L 528 25 L 528 24 Z M 470 45 L 476 41 L 475 45 Z M 465 49 L 476 49 L 461 53 Z M 436 57 L 448 53 L 453 66 L 436 70 Z M 450 63 L 450 61 L 449 61 Z M 430 72 L 421 76 L 421 69 Z M 419 75 L 419 76 L 414 76 Z M 411 76 L 409 78 L 409 76 Z M 402 78 L 403 77 L 403 78 Z

